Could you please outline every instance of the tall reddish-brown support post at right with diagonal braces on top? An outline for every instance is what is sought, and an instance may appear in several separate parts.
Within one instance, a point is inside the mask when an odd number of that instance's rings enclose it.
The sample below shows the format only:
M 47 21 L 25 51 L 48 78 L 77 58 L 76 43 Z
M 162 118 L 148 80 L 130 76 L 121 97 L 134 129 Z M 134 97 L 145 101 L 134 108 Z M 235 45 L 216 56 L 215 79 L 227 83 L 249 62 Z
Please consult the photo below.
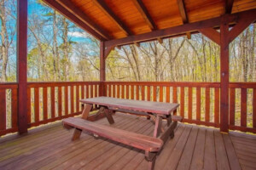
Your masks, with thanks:
M 229 132 L 229 24 L 225 15 L 220 25 L 220 131 Z

